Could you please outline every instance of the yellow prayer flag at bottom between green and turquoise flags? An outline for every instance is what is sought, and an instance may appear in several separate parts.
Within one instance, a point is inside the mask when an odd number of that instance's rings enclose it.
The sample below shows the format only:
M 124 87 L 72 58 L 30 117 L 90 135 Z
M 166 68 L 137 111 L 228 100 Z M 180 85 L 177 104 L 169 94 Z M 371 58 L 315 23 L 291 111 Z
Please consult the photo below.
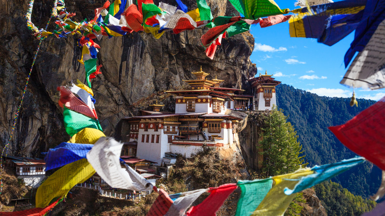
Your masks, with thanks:
M 253 216 L 281 216 L 285 213 L 287 207 L 289 207 L 291 201 L 294 199 L 297 193 L 286 195 L 283 192 L 285 187 L 293 189 L 298 183 L 299 179 L 304 176 L 313 174 L 310 168 L 299 169 L 295 173 L 280 175 L 272 177 L 275 181 L 275 185 L 270 189 L 258 208 L 253 212 Z

